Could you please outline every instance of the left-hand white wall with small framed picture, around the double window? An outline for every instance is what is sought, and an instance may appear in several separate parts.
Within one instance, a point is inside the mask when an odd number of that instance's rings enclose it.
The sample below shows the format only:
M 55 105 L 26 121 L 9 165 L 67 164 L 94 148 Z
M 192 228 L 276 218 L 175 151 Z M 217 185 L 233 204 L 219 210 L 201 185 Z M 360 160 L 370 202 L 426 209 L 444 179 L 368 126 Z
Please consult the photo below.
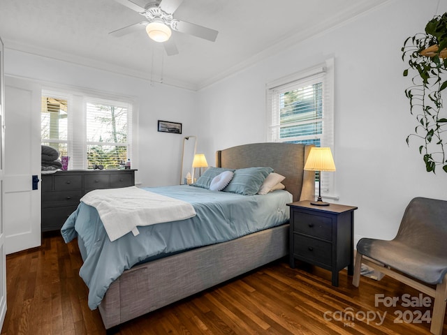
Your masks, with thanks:
M 79 66 L 66 61 L 5 50 L 6 75 L 29 78 L 47 87 L 89 89 L 131 98 L 138 112 L 137 181 L 142 186 L 178 184 L 183 137 L 196 133 L 196 92 Z M 8 96 L 6 96 L 8 99 Z M 37 111 L 39 112 L 39 111 Z M 158 120 L 183 124 L 182 135 L 157 132 Z

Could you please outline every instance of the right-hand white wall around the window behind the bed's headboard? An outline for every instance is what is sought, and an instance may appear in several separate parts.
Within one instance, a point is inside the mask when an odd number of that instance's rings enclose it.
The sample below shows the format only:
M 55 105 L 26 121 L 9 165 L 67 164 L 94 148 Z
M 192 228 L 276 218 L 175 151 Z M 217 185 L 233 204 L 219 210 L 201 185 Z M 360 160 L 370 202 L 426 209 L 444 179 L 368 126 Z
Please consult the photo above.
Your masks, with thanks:
M 411 198 L 447 200 L 447 174 L 425 172 L 419 144 L 405 142 L 416 124 L 400 52 L 408 36 L 447 10 L 441 2 L 436 13 L 437 0 L 390 1 L 202 89 L 202 151 L 214 157 L 217 149 L 265 141 L 265 84 L 334 57 L 338 202 L 358 206 L 356 240 L 393 238 Z

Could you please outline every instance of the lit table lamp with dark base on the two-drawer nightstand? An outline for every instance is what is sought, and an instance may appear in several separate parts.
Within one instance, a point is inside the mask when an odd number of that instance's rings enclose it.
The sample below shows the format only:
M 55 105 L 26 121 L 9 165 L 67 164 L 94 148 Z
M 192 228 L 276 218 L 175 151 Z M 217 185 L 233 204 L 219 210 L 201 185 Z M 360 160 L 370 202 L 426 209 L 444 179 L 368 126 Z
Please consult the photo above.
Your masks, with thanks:
M 328 202 L 321 199 L 321 171 L 335 171 L 335 163 L 330 148 L 312 147 L 305 164 L 305 170 L 318 171 L 318 199 L 311 202 L 317 206 L 328 206 Z

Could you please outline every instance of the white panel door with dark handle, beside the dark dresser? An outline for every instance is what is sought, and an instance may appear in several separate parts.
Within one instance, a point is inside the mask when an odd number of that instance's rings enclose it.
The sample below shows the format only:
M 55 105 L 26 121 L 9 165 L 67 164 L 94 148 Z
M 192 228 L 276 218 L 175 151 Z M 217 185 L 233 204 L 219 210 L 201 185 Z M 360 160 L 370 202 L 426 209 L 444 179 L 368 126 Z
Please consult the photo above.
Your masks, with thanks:
M 3 223 L 6 254 L 41 245 L 41 87 L 5 77 Z

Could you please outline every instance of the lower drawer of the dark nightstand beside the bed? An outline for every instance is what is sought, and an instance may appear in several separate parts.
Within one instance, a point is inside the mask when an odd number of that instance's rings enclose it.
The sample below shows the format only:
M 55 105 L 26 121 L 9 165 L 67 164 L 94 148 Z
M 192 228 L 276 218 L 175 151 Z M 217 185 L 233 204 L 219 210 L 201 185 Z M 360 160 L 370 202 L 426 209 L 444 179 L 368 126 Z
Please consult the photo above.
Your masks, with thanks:
M 293 244 L 295 245 L 293 253 L 299 255 L 302 260 L 318 262 L 330 267 L 332 263 L 331 243 L 295 234 Z

